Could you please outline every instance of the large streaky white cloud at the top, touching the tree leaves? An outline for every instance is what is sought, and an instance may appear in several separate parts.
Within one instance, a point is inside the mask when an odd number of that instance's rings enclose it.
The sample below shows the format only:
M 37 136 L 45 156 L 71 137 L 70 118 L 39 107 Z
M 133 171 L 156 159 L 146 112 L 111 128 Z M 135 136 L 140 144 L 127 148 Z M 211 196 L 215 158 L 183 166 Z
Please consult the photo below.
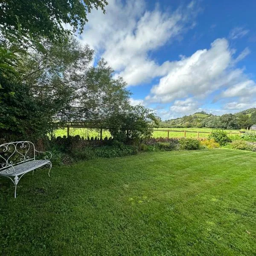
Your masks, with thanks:
M 80 41 L 93 47 L 128 85 L 166 75 L 172 64 L 158 64 L 148 53 L 176 40 L 188 29 L 186 25 L 194 26 L 196 2 L 173 12 L 162 12 L 158 7 L 147 11 L 143 0 L 108 2 L 105 15 L 97 11 L 88 15 Z

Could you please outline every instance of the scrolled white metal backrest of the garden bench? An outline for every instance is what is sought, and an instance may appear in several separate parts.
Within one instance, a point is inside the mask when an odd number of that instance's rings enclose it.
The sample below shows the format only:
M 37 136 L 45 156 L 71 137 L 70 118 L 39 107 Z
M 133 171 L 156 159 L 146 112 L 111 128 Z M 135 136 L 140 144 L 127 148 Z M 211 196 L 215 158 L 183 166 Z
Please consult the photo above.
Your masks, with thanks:
M 31 160 L 35 160 L 35 145 L 30 141 L 0 145 L 0 171 Z

